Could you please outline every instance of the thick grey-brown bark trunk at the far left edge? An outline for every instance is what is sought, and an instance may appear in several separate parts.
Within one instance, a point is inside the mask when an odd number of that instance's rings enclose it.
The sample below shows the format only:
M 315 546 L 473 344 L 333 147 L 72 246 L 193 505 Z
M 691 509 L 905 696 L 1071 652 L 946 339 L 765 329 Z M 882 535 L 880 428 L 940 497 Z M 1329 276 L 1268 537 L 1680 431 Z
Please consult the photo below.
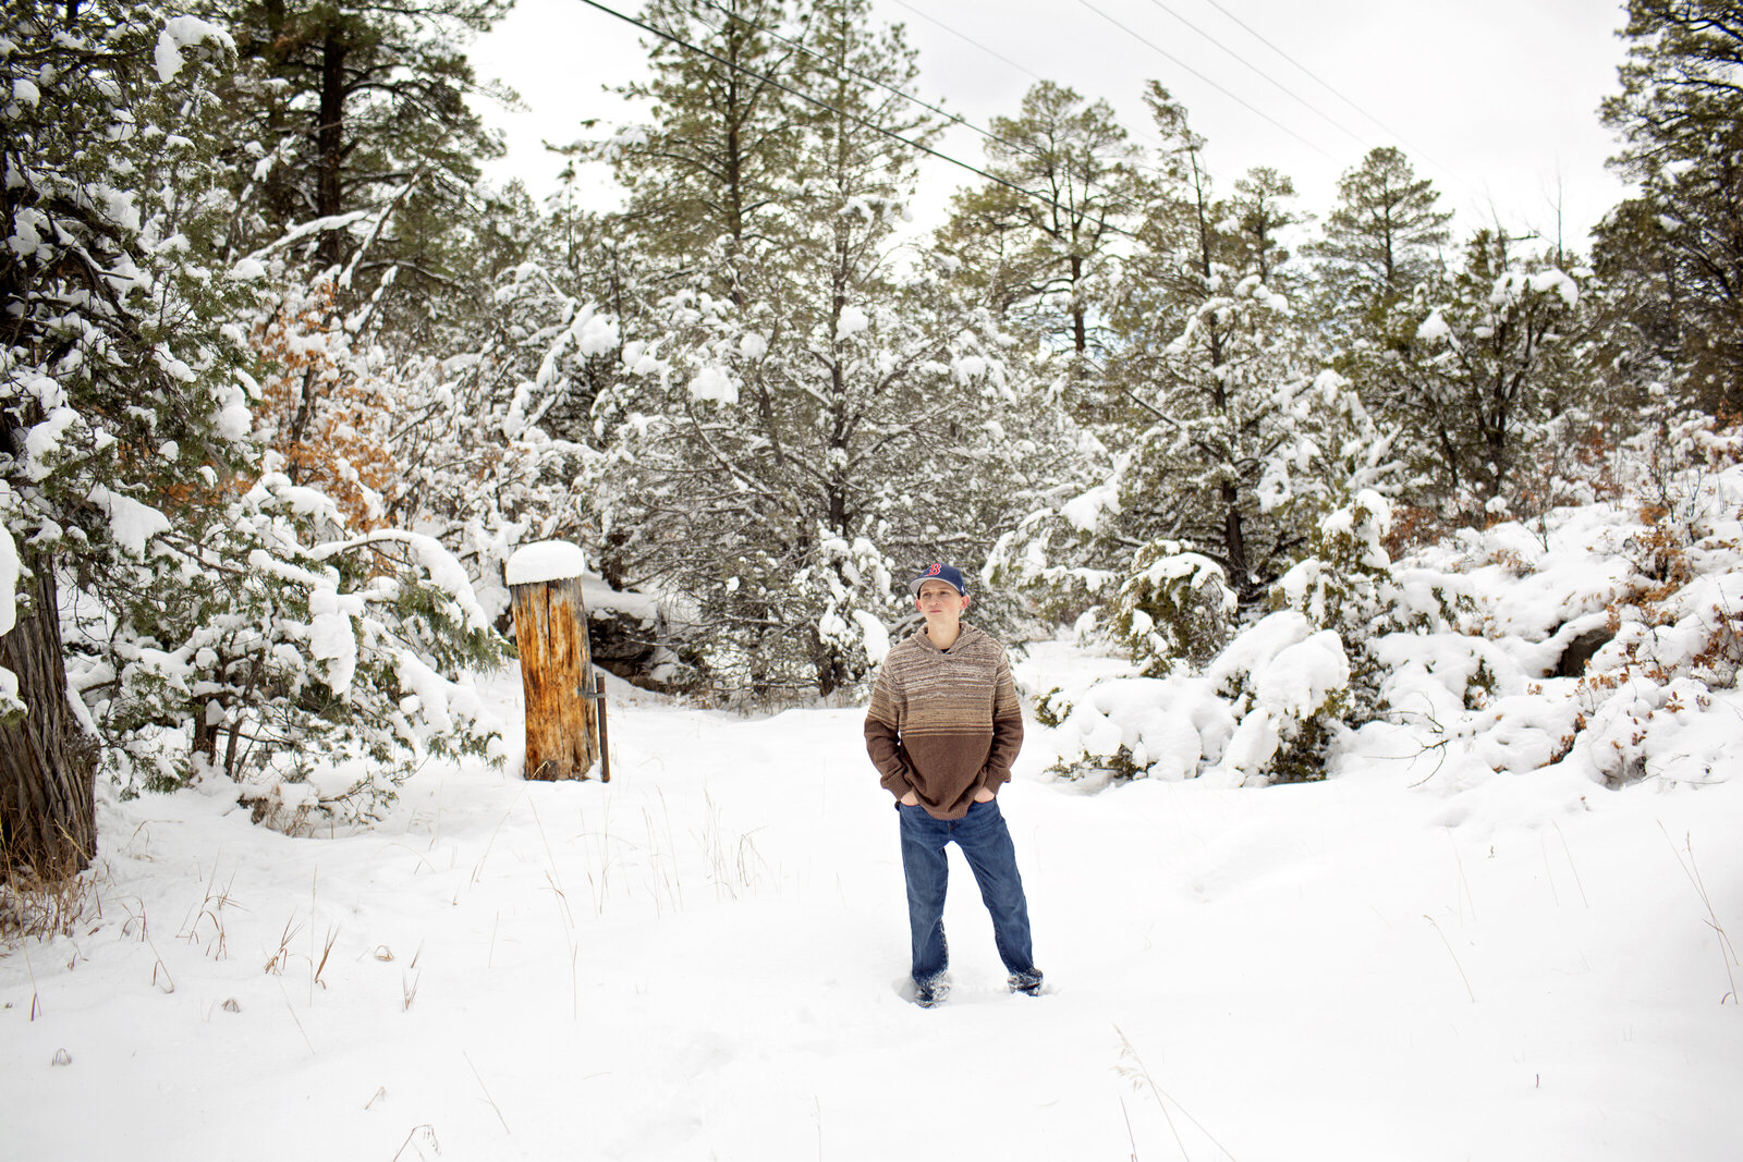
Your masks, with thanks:
M 24 552 L 30 580 L 0 665 L 17 676 L 23 719 L 0 726 L 0 871 L 75 875 L 98 850 L 96 746 L 66 704 L 54 561 Z M 28 608 L 26 608 L 28 603 Z

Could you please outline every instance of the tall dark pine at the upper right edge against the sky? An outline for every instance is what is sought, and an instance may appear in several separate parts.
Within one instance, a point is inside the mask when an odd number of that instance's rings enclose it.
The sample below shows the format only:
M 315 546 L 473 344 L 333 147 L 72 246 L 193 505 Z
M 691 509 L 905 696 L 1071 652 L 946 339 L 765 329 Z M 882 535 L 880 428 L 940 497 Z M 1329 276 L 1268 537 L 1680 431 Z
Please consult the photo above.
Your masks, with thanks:
M 1612 160 L 1640 185 L 1607 220 L 1600 267 L 1645 282 L 1630 312 L 1675 348 L 1694 404 L 1743 406 L 1743 21 L 1727 0 L 1630 0 Z

